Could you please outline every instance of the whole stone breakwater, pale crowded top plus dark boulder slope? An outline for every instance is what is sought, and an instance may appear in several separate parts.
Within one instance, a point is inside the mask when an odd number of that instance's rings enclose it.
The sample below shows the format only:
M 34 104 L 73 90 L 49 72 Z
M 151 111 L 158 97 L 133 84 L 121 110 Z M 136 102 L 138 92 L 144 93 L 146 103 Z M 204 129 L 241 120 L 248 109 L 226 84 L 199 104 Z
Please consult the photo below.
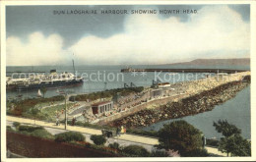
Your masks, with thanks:
M 237 91 L 245 87 L 248 82 L 242 80 L 246 76 L 250 76 L 250 72 L 231 74 L 222 77 L 216 76 L 198 81 L 177 82 L 172 85 L 172 87 L 175 87 L 175 92 L 171 96 L 150 100 L 136 107 L 130 108 L 125 112 L 120 112 L 113 116 L 100 119 L 98 124 L 141 127 L 148 126 L 161 120 L 179 118 L 204 111 L 210 111 L 215 105 L 221 103 L 222 98 L 224 98 L 222 101 L 224 102 L 233 97 Z M 225 95 L 224 92 L 226 92 Z M 217 98 L 218 96 L 220 97 Z M 219 99 L 220 101 L 216 102 L 216 99 L 211 99 L 213 97 Z M 197 100 L 202 100 L 202 102 L 197 102 Z M 152 105 L 157 105 L 157 107 L 152 108 Z M 174 105 L 176 110 L 164 107 L 166 105 Z M 197 110 L 194 110 L 191 109 L 191 107 L 201 107 L 201 109 L 198 108 Z M 166 112 L 168 109 L 171 109 L 172 111 Z M 187 110 L 189 110 L 189 112 L 185 113 Z M 175 111 L 180 113 L 176 114 L 174 113 Z M 146 116 L 147 114 L 149 114 L 148 117 Z M 152 116 L 150 114 L 155 114 L 156 116 Z M 144 119 L 148 119 L 146 120 L 147 122 Z

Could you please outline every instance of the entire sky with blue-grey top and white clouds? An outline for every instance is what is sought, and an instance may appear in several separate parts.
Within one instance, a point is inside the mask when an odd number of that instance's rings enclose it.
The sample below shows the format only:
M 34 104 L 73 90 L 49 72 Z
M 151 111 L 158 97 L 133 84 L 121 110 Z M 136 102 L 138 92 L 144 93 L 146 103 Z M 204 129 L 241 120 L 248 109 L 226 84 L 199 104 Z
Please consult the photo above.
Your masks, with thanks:
M 74 10 L 97 14 L 67 14 Z M 150 65 L 249 58 L 250 6 L 7 6 L 6 43 L 7 66 L 69 65 L 72 59 L 78 65 Z

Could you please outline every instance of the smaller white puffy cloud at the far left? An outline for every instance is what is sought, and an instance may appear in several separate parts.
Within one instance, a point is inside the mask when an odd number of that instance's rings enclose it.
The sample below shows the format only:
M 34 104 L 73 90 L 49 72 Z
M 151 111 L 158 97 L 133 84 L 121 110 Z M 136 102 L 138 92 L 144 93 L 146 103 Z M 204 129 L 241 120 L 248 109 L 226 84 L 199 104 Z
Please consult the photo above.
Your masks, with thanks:
M 33 32 L 28 42 L 10 36 L 6 44 L 8 66 L 59 65 L 66 59 L 66 52 L 62 49 L 63 39 L 58 34 L 45 37 L 41 32 Z

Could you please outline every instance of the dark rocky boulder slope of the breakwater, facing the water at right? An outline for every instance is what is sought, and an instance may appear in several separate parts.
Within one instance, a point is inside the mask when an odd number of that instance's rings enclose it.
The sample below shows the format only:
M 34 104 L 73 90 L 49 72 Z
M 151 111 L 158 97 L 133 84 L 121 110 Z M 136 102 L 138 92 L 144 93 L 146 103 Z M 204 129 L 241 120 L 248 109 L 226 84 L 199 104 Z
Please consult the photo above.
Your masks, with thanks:
M 238 91 L 248 84 L 249 81 L 226 82 L 210 90 L 190 95 L 178 101 L 170 101 L 167 104 L 161 103 L 161 105 L 155 109 L 144 109 L 127 117 L 117 119 L 109 123 L 109 125 L 138 128 L 168 119 L 181 118 L 211 111 L 216 105 L 222 104 L 234 97 Z

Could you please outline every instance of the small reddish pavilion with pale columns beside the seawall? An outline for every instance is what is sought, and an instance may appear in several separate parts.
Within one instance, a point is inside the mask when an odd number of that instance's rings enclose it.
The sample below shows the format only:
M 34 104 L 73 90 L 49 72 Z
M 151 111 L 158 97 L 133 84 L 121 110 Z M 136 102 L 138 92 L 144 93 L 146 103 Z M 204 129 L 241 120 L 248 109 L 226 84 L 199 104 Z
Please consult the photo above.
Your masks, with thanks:
M 93 114 L 101 115 L 113 109 L 113 101 L 98 102 L 92 105 Z

